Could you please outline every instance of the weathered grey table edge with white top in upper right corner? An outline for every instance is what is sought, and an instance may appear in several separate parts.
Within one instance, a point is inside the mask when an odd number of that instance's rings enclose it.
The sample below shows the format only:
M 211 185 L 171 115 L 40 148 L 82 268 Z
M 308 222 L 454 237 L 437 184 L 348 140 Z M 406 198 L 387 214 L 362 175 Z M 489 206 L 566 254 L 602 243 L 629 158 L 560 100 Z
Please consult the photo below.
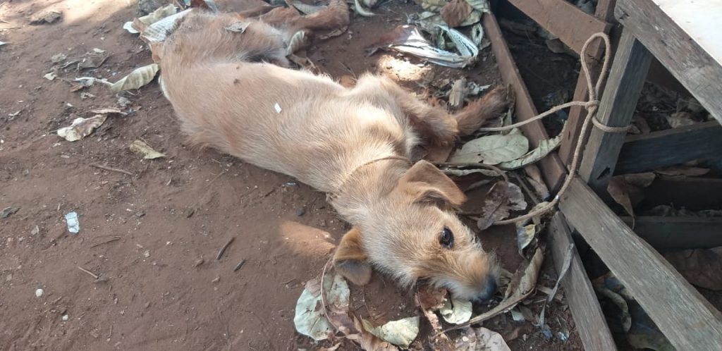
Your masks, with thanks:
M 614 15 L 722 123 L 722 45 L 714 45 L 722 6 L 681 0 L 664 1 L 663 7 L 651 0 L 619 0 Z

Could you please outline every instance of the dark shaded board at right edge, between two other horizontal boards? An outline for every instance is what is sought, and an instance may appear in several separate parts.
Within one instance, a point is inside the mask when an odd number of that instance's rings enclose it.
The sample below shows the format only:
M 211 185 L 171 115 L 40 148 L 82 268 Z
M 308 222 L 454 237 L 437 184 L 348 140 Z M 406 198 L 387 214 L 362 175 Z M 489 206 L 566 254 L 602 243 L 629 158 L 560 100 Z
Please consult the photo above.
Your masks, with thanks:
M 722 209 L 722 179 L 673 177 L 657 178 L 644 189 L 644 199 L 638 208 L 649 209 L 658 204 L 700 211 Z

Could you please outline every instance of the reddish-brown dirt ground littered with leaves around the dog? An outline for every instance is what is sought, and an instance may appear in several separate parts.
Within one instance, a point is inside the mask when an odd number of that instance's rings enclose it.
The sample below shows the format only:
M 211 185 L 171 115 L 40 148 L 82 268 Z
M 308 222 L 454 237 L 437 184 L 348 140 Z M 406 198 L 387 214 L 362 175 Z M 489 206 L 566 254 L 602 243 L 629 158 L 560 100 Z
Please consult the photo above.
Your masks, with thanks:
M 27 24 L 50 9 L 62 12 L 62 20 Z M 392 1 L 375 10 L 377 17 L 354 16 L 347 33 L 317 43 L 308 56 L 336 78 L 376 71 L 419 93 L 424 82 L 462 74 L 479 84 L 500 83 L 488 48 L 464 71 L 393 54 L 365 57 L 367 45 L 419 11 Z M 78 142 L 55 135 L 77 116 L 118 105 L 120 95 L 107 87 L 71 92 L 69 81 L 115 81 L 152 63 L 142 40 L 121 28 L 135 13 L 131 0 L 0 1 L 0 40 L 8 43 L 0 46 L 0 207 L 17 209 L 0 220 L 0 349 L 313 349 L 295 332 L 295 303 L 348 229 L 324 194 L 189 147 L 155 82 L 124 93 L 129 114 L 111 116 L 94 135 Z M 43 78 L 52 71 L 51 56 L 80 57 L 93 48 L 110 53 L 100 68 Z M 82 98 L 83 92 L 95 96 Z M 168 157 L 143 160 L 128 149 L 136 139 Z M 470 197 L 478 203 L 484 191 L 477 193 Z M 79 214 L 77 235 L 66 230 L 64 215 L 71 211 Z M 513 228 L 484 231 L 482 240 L 505 269 L 521 263 Z M 241 259 L 245 265 L 233 272 Z M 545 272 L 542 282 L 551 286 L 554 275 L 548 267 Z M 352 310 L 377 323 L 420 315 L 413 294 L 376 275 L 367 287 L 352 288 Z M 531 299 L 529 308 L 538 313 L 543 298 Z M 508 315 L 484 326 L 503 334 L 513 350 L 581 350 L 564 304 L 553 303 L 547 318 L 555 333 L 567 330 L 570 339 L 544 339 L 538 328 Z M 421 350 L 428 332 L 422 324 L 412 348 Z

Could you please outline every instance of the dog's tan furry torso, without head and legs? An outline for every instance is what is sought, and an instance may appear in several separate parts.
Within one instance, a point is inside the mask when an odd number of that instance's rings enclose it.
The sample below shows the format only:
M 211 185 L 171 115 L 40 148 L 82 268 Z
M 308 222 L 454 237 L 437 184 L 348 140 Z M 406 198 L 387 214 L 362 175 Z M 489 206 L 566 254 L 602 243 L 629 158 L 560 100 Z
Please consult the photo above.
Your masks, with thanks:
M 225 29 L 243 21 L 243 32 Z M 410 148 L 414 138 L 394 116 L 402 113 L 389 113 L 394 104 L 383 92 L 371 102 L 329 77 L 266 63 L 285 60 L 284 36 L 232 14 L 186 15 L 159 57 L 164 93 L 194 144 L 321 191 L 336 191 L 357 160 Z

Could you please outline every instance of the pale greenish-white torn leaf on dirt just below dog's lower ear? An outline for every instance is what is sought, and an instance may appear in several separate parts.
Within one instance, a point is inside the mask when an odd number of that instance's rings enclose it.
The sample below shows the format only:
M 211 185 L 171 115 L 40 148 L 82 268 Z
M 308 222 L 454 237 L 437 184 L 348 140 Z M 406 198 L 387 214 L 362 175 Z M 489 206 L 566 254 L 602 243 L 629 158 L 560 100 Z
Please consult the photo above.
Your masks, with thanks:
M 327 274 L 323 279 L 323 290 L 327 304 L 348 306 L 349 286 L 339 274 L 334 274 L 332 278 Z M 336 329 L 326 319 L 321 307 L 321 290 L 318 289 L 314 293 L 311 293 L 308 287 L 303 290 L 296 303 L 293 323 L 297 332 L 318 341 L 328 339 Z

